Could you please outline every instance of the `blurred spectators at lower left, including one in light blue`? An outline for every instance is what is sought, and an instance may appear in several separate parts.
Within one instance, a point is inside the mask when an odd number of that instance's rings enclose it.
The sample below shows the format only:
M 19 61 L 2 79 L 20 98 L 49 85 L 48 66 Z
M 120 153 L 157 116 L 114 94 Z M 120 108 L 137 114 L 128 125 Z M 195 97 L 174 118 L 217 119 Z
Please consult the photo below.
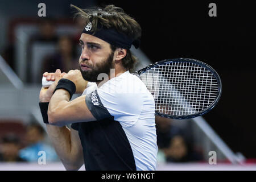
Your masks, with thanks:
M 13 131 L 8 131 L 0 138 L 0 162 L 37 163 L 45 152 L 47 162 L 59 160 L 51 144 L 47 144 L 46 132 L 38 122 L 33 121 L 25 126 L 24 137 Z

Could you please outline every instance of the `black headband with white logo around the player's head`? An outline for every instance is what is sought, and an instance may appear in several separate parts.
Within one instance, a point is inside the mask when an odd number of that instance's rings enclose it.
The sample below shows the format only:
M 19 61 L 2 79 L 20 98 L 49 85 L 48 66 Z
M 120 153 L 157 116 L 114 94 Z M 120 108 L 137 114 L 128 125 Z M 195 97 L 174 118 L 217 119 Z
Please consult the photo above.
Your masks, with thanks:
M 138 48 L 141 43 L 139 39 L 133 40 L 125 34 L 118 32 L 115 28 L 106 28 L 102 26 L 101 23 L 98 23 L 95 34 L 90 30 L 92 30 L 92 23 L 88 23 L 84 30 L 82 30 L 82 33 L 96 36 L 97 38 L 100 38 L 116 47 L 130 49 L 131 45 L 134 45 L 135 48 Z

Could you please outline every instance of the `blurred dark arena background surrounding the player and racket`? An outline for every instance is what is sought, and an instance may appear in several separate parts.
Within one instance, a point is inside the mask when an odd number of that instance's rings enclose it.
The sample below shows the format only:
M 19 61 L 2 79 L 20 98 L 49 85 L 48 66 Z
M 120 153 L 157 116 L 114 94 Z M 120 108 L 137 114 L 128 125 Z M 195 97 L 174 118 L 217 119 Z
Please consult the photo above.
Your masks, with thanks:
M 210 17 L 209 3 L 217 16 Z M 39 3 L 46 17 L 39 17 Z M 42 122 L 42 73 L 77 69 L 85 9 L 114 4 L 142 26 L 135 70 L 164 59 L 189 57 L 211 65 L 222 80 L 218 105 L 177 121 L 156 117 L 158 170 L 256 169 L 254 7 L 243 1 L 0 0 L 0 170 L 64 170 Z M 46 165 L 39 165 L 39 151 Z M 216 165 L 211 158 L 216 152 Z M 84 169 L 83 167 L 81 169 Z

